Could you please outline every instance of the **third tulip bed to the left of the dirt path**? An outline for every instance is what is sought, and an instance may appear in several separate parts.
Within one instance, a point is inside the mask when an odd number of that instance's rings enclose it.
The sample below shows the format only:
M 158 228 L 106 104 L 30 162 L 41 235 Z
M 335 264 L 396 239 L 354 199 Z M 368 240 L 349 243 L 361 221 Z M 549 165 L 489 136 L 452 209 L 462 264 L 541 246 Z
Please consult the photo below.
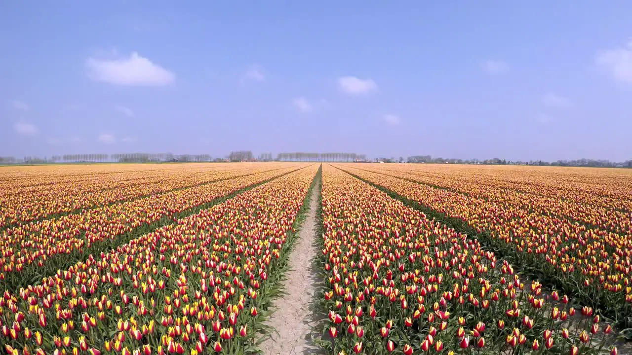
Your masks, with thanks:
M 274 167 L 270 167 L 274 168 Z M 54 169 L 54 167 L 51 167 Z M 162 171 L 139 171 L 131 174 L 107 174 L 52 185 L 7 188 L 0 196 L 0 228 L 81 212 L 111 203 L 125 202 L 141 196 L 166 193 L 176 189 L 236 178 L 261 171 L 260 167 L 243 165 L 210 165 Z

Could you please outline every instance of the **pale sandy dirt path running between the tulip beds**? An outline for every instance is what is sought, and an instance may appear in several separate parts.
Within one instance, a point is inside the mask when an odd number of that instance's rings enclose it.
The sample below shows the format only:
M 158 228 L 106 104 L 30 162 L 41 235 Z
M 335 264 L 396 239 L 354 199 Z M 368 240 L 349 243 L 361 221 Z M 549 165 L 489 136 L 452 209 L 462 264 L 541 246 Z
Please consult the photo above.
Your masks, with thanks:
M 315 233 L 319 195 L 320 181 L 313 188 L 309 210 L 294 250 L 289 255 L 290 270 L 286 273 L 288 279 L 283 285 L 286 292 L 282 298 L 274 300 L 274 313 L 266 322 L 275 329 L 260 346 L 266 355 L 307 355 L 319 352 L 312 342 L 317 317 L 311 310 L 318 283 L 317 272 L 312 269 L 312 259 L 317 253 Z

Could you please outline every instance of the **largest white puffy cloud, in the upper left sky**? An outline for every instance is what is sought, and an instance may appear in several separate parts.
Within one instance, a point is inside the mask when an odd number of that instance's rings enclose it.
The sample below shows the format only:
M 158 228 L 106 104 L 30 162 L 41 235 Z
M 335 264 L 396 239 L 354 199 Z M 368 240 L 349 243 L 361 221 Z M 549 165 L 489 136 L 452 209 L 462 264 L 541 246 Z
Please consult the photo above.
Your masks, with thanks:
M 88 75 L 92 80 L 125 86 L 164 86 L 173 83 L 176 76 L 133 52 L 122 59 L 86 60 Z

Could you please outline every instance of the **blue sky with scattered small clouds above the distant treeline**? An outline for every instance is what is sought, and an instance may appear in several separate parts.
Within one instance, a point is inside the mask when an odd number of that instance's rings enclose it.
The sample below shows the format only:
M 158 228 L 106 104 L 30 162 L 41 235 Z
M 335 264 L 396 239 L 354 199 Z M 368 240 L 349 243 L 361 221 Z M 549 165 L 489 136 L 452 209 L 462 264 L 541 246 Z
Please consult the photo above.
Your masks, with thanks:
M 0 3 L 0 155 L 632 159 L 632 2 Z

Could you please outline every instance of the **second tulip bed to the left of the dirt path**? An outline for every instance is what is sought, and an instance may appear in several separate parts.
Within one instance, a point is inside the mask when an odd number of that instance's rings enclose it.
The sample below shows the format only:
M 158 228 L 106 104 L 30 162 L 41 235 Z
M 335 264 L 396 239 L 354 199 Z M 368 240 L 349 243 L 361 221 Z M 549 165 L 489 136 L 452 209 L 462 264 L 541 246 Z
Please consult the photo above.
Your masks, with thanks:
M 0 286 L 16 289 L 30 284 L 90 253 L 97 255 L 173 222 L 181 214 L 190 214 L 192 208 L 204 208 L 217 198 L 301 166 L 305 164 L 272 170 L 260 167 L 255 174 L 11 227 L 0 236 Z

